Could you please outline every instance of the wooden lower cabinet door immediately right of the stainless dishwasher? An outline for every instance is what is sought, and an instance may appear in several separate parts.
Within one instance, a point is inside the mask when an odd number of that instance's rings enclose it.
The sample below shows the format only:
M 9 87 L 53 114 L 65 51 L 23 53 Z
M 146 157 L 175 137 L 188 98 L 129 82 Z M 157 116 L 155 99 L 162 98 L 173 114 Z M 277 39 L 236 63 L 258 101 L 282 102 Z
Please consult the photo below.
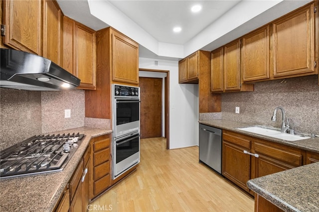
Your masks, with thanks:
M 250 179 L 250 155 L 244 153 L 246 149 L 225 141 L 222 149 L 222 175 L 249 192 L 246 183 Z

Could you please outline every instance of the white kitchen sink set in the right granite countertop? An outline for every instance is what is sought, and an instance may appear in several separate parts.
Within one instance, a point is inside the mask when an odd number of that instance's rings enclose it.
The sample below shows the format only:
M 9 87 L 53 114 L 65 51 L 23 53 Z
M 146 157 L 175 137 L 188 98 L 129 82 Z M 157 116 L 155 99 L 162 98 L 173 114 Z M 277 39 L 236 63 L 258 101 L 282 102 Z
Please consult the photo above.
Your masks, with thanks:
M 260 127 L 260 126 L 249 126 L 249 127 L 243 127 L 243 128 L 237 128 L 237 129 L 260 134 L 260 135 L 266 135 L 266 136 L 270 136 L 273 138 L 288 140 L 288 141 L 297 141 L 297 140 L 311 138 L 311 137 L 304 136 L 304 135 L 292 135 L 292 134 L 288 134 L 288 133 L 282 133 L 279 130 L 268 129 L 268 128 L 264 128 L 264 127 Z

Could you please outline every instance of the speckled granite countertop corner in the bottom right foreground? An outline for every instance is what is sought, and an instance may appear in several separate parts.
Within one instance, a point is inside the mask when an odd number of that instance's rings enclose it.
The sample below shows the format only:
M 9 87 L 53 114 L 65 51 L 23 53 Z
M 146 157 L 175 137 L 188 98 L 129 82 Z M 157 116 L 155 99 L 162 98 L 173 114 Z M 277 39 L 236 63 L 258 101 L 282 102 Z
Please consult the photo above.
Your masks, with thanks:
M 319 212 L 319 162 L 247 182 L 247 186 L 286 212 Z

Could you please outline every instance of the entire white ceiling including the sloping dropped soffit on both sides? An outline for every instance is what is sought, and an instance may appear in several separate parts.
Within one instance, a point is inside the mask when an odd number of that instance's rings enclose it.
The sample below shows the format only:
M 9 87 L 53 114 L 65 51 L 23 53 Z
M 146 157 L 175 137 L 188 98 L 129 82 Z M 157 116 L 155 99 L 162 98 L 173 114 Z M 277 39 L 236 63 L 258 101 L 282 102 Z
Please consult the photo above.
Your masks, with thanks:
M 94 30 L 112 26 L 136 40 L 140 56 L 177 60 L 198 49 L 213 50 L 309 1 L 57 0 L 64 15 Z M 192 13 L 194 4 L 202 10 Z M 177 25 L 182 30 L 174 33 Z M 175 47 L 182 54 L 171 54 Z

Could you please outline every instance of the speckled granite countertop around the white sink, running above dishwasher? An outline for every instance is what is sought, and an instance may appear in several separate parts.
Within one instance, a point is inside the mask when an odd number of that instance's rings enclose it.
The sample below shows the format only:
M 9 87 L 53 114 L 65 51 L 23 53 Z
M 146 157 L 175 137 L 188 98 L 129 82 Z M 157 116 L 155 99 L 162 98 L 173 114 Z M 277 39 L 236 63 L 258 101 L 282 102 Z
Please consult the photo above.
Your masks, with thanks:
M 236 121 L 229 121 L 229 120 L 224 120 L 224 119 L 217 119 L 217 120 L 199 120 L 199 123 L 206 124 L 209 126 L 213 126 L 216 128 L 220 129 L 226 129 L 226 130 L 231 130 L 234 132 L 238 132 L 241 134 L 253 136 L 256 138 L 276 142 L 276 143 L 281 143 L 285 144 L 287 146 L 292 146 L 312 152 L 319 153 L 319 137 L 314 137 L 314 138 L 309 138 L 309 139 L 304 139 L 304 140 L 297 140 L 297 141 L 287 141 L 279 138 L 274 138 L 266 135 L 260 135 L 252 132 L 247 132 L 244 130 L 240 130 L 238 128 L 241 127 L 248 127 L 248 126 L 255 126 L 254 124 L 246 124 L 246 123 L 241 123 L 241 122 L 236 122 Z

